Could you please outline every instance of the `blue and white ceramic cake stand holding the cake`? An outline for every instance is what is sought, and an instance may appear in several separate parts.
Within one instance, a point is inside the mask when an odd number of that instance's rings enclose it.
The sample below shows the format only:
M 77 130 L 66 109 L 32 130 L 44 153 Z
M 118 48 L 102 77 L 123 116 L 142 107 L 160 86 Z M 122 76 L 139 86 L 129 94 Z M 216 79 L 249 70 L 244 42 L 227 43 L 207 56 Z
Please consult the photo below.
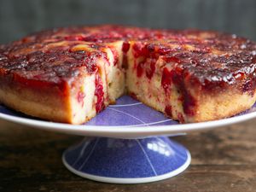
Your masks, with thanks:
M 256 104 L 228 119 L 178 124 L 130 96 L 122 96 L 84 125 L 34 119 L 0 105 L 0 118 L 33 128 L 84 136 L 62 161 L 81 177 L 105 183 L 148 183 L 176 176 L 190 164 L 187 148 L 169 137 L 236 124 L 256 117 Z

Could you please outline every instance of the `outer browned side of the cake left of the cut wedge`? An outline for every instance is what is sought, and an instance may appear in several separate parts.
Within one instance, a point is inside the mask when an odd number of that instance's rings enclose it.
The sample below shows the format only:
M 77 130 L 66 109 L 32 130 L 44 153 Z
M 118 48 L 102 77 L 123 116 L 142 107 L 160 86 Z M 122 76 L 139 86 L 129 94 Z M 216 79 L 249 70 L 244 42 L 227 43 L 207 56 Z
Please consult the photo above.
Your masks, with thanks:
M 27 80 L 15 74 L 0 73 L 0 101 L 15 110 L 58 122 L 71 123 L 68 85 Z

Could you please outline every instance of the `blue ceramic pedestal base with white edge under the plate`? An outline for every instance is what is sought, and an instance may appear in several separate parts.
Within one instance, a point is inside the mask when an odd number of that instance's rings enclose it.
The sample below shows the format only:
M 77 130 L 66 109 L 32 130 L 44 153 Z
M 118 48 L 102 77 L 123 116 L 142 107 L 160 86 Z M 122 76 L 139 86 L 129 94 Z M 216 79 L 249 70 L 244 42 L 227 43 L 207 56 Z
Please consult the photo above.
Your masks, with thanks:
M 168 137 L 85 138 L 62 156 L 67 169 L 105 183 L 148 183 L 176 176 L 190 164 L 189 151 Z

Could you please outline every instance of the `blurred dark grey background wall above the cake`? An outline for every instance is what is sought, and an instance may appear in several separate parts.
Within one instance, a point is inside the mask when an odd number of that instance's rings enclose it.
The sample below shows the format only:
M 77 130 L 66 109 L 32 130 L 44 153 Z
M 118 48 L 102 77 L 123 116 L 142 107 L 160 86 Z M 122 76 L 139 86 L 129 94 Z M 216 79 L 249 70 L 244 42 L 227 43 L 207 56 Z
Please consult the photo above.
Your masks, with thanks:
M 0 0 L 0 44 L 56 26 L 201 28 L 256 40 L 255 0 Z

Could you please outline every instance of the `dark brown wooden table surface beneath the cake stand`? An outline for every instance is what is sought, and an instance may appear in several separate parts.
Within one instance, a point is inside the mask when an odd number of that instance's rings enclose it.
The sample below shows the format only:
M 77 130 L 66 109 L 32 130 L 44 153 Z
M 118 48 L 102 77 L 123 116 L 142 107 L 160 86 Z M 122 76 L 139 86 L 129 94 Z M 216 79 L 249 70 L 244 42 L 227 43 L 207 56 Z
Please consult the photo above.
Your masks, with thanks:
M 189 168 L 160 182 L 108 184 L 74 175 L 63 150 L 82 137 L 0 121 L 0 191 L 256 191 L 256 120 L 175 137 L 192 155 Z

